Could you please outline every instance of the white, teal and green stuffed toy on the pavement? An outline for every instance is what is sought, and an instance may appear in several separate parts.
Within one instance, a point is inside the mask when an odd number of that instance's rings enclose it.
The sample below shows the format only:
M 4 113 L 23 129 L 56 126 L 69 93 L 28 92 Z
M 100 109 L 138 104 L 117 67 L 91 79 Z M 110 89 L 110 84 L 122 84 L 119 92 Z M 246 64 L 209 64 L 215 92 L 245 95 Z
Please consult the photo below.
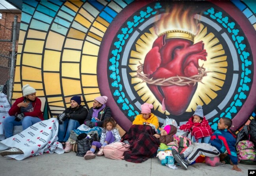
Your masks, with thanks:
M 178 169 L 176 165 L 174 165 L 172 148 L 169 148 L 167 145 L 161 143 L 157 153 L 158 154 L 156 157 L 158 157 L 158 161 L 161 161 L 161 165 L 166 165 L 171 169 Z

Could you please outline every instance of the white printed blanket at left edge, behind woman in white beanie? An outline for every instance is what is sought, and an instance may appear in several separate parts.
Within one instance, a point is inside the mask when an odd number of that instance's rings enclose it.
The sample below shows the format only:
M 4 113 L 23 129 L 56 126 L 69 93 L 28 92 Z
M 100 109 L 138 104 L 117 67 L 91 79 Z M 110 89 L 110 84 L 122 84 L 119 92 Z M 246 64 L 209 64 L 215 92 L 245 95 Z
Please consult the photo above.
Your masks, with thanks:
M 0 93 L 0 140 L 6 139 L 4 135 L 4 118 L 9 116 L 8 112 L 11 108 L 7 96 L 4 93 Z

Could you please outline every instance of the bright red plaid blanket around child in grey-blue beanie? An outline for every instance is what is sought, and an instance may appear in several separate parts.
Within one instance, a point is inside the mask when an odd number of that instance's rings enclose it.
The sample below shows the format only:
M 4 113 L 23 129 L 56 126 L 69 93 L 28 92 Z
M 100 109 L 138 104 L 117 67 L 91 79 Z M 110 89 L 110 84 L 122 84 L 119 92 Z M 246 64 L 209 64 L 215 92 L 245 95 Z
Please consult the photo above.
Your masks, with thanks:
M 180 126 L 180 130 L 188 132 L 192 130 L 191 135 L 195 136 L 196 141 L 201 137 L 211 136 L 212 130 L 208 124 L 208 120 L 204 117 L 201 123 L 194 123 L 193 118 L 194 117 L 192 116 L 186 124 Z

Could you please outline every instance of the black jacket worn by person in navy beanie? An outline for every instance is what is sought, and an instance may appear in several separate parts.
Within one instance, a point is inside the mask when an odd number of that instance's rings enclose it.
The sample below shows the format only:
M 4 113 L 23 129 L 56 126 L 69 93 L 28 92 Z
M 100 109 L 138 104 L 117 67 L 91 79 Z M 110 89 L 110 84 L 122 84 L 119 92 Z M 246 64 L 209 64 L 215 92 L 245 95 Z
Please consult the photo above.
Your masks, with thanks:
M 75 108 L 67 108 L 63 113 L 69 114 L 69 118 L 73 120 L 77 120 L 80 125 L 83 124 L 83 121 L 86 119 L 88 110 L 86 107 L 78 106 Z

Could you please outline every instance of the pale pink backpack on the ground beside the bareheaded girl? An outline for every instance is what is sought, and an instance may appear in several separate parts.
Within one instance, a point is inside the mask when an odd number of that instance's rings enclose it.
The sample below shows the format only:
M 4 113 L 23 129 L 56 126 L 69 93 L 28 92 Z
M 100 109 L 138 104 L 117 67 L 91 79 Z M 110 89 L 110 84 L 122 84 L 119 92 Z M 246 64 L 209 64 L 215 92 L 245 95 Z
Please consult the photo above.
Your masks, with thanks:
M 123 142 L 115 142 L 104 146 L 104 156 L 110 159 L 124 159 L 124 152 L 128 151 L 130 145 Z

